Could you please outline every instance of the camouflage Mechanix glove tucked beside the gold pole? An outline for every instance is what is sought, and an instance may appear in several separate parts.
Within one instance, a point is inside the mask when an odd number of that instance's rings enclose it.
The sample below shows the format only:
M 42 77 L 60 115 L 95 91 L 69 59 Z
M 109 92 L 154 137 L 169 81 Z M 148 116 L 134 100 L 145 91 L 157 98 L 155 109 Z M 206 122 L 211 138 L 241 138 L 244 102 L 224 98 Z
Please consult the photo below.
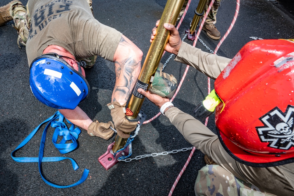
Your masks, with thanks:
M 159 95 L 163 98 L 172 98 L 176 92 L 177 79 L 173 75 L 162 72 L 163 64 L 159 63 L 154 75 L 153 82 L 149 87 L 152 94 Z

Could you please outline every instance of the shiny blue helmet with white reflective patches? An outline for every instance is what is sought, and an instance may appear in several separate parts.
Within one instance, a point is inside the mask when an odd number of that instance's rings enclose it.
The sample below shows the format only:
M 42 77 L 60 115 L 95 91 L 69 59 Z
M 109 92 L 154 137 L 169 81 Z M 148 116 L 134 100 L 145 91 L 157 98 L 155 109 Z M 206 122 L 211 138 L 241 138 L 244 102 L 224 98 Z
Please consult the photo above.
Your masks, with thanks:
M 30 86 L 34 96 L 47 106 L 74 109 L 90 92 L 87 80 L 55 53 L 41 55 L 30 65 Z

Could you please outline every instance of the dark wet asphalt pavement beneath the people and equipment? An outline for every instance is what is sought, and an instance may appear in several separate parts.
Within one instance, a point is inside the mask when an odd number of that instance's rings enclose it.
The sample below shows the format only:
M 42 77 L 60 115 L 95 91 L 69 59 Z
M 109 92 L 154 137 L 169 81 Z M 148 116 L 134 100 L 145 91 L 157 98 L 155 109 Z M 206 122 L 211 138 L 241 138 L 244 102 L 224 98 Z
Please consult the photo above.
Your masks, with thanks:
M 0 6 L 9 3 L 2 0 Z M 24 4 L 27 0 L 23 1 Z M 283 4 L 284 3 L 284 4 Z M 286 3 L 286 4 L 285 4 Z M 290 1 L 242 0 L 237 21 L 232 31 L 218 50 L 218 55 L 233 58 L 240 48 L 258 37 L 263 39 L 294 38 L 293 10 Z M 101 23 L 117 29 L 133 41 L 144 53 L 143 61 L 150 47 L 151 29 L 160 19 L 166 0 L 93 0 L 95 18 Z M 198 0 L 192 0 L 188 13 L 179 29 L 181 37 L 193 19 Z M 293 3 L 292 3 L 293 4 Z M 222 0 L 217 13 L 216 27 L 225 34 L 235 13 L 236 1 Z M 285 9 L 287 8 L 287 9 Z M 293 6 L 292 6 L 293 8 Z M 52 116 L 56 109 L 49 108 L 34 98 L 29 87 L 29 66 L 25 47 L 18 48 L 17 32 L 12 22 L 0 27 L 0 194 L 1 195 L 168 195 L 175 179 L 181 172 L 190 151 L 176 154 L 146 157 L 131 162 L 118 162 L 106 171 L 98 162 L 98 157 L 106 152 L 114 137 L 106 141 L 90 137 L 82 130 L 78 138 L 79 146 L 73 152 L 60 154 L 51 142 L 54 129 L 50 128 L 46 136 L 45 157 L 71 157 L 79 165 L 74 171 L 68 160 L 42 163 L 42 173 L 47 180 L 58 185 L 73 184 L 81 177 L 83 169 L 90 173 L 81 185 L 59 189 L 47 185 L 39 174 L 37 163 L 15 162 L 10 153 L 40 123 Z M 217 40 L 210 39 L 201 32 L 200 39 L 214 50 Z M 191 40 L 185 40 L 193 45 Z M 196 47 L 209 52 L 199 41 Z M 166 53 L 161 62 L 170 54 Z M 178 81 L 186 65 L 168 62 L 165 72 L 173 74 Z M 111 120 L 106 104 L 111 100 L 114 87 L 114 64 L 98 58 L 96 65 L 86 70 L 86 78 L 91 92 L 80 107 L 91 119 L 101 122 Z M 213 81 L 211 81 L 213 88 Z M 191 68 L 174 105 L 193 115 L 195 106 L 207 95 L 207 77 Z M 248 103 L 250 104 L 250 103 Z M 155 116 L 159 109 L 145 100 L 141 108 L 147 119 Z M 208 128 L 216 132 L 214 116 L 208 121 Z M 197 129 L 192 127 L 191 129 Z M 22 149 L 17 157 L 37 157 L 42 130 Z M 139 135 L 132 142 L 134 158 L 139 155 L 161 153 L 182 148 L 189 144 L 165 116 L 159 116 L 150 123 L 141 126 Z M 203 153 L 196 150 L 179 180 L 173 195 L 195 195 L 194 183 L 198 170 L 205 165 Z

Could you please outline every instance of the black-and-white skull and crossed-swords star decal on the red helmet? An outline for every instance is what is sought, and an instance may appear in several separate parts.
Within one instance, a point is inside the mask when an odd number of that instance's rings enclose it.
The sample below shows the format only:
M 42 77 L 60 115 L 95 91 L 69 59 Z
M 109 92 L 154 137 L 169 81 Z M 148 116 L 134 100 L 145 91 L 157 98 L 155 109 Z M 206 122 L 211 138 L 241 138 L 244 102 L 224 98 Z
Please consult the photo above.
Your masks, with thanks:
M 276 149 L 288 150 L 294 146 L 293 130 L 294 106 L 288 105 L 285 113 L 278 107 L 260 117 L 264 124 L 255 127 L 261 142 L 268 142 L 268 146 Z

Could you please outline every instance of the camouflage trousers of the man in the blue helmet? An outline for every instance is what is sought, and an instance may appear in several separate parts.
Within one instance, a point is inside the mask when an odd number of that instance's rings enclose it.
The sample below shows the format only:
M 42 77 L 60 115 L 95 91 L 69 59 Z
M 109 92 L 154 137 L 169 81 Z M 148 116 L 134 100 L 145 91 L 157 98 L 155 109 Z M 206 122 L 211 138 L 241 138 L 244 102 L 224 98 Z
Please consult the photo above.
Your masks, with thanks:
M 93 14 L 92 9 L 92 0 L 86 0 L 90 6 L 90 9 Z M 24 6 L 23 4 L 19 3 L 18 1 L 10 4 L 9 13 L 11 17 L 13 18 L 14 25 L 13 27 L 17 30 L 17 45 L 18 47 L 21 47 L 21 45 L 26 46 L 26 41 L 29 37 L 29 31 L 31 27 L 31 15 L 29 13 L 29 9 L 27 6 Z M 87 57 L 87 58 L 77 58 L 77 61 L 85 61 L 86 67 L 90 68 L 93 67 L 97 59 L 97 56 Z

